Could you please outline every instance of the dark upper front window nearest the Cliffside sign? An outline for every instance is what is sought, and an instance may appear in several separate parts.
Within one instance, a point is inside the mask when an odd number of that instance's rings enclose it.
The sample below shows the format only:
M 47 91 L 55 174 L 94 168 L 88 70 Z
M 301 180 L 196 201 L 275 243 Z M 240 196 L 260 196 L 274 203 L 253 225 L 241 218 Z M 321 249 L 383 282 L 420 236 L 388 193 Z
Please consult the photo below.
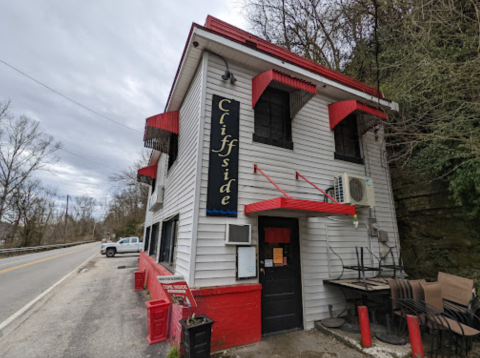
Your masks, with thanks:
M 290 95 L 268 87 L 255 105 L 253 141 L 293 149 Z

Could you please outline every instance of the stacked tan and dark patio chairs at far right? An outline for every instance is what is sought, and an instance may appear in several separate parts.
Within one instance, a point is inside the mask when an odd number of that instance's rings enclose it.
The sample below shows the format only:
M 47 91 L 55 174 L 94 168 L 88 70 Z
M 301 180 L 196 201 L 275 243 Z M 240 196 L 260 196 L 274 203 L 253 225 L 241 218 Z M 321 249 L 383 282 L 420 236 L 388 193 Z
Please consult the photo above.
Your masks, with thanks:
M 432 357 L 454 350 L 466 356 L 474 337 L 480 336 L 479 308 L 472 280 L 439 273 L 438 281 L 388 279 L 392 299 L 392 322 L 406 330 L 406 316 L 416 315 L 422 331 L 431 333 Z

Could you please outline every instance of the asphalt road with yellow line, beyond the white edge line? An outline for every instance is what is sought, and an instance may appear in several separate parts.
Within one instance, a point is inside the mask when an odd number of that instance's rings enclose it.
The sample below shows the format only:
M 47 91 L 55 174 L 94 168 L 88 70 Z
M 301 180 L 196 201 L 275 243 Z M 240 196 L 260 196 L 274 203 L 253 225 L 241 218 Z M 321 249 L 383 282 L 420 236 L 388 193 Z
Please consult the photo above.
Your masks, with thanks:
M 0 324 L 95 253 L 100 242 L 0 259 Z

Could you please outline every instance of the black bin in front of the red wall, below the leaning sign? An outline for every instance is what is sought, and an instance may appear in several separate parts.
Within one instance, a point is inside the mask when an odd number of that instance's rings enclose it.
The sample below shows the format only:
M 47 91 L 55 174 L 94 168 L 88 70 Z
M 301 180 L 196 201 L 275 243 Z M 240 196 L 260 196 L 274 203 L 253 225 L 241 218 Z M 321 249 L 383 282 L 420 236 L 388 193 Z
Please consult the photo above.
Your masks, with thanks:
M 182 319 L 183 349 L 185 358 L 209 358 L 212 325 L 215 323 L 207 316 L 195 317 L 196 325 L 187 324 L 187 319 Z

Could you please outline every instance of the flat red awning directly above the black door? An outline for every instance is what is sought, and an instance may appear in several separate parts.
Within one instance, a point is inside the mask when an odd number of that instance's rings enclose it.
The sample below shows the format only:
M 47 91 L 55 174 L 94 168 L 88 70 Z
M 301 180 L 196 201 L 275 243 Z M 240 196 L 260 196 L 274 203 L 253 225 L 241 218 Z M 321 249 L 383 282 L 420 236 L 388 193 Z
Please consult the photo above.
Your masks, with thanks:
M 331 214 L 355 215 L 355 207 L 345 204 L 324 203 L 321 201 L 291 198 L 275 198 L 245 205 L 245 215 L 277 213 L 287 211 L 303 211 L 308 216 Z

